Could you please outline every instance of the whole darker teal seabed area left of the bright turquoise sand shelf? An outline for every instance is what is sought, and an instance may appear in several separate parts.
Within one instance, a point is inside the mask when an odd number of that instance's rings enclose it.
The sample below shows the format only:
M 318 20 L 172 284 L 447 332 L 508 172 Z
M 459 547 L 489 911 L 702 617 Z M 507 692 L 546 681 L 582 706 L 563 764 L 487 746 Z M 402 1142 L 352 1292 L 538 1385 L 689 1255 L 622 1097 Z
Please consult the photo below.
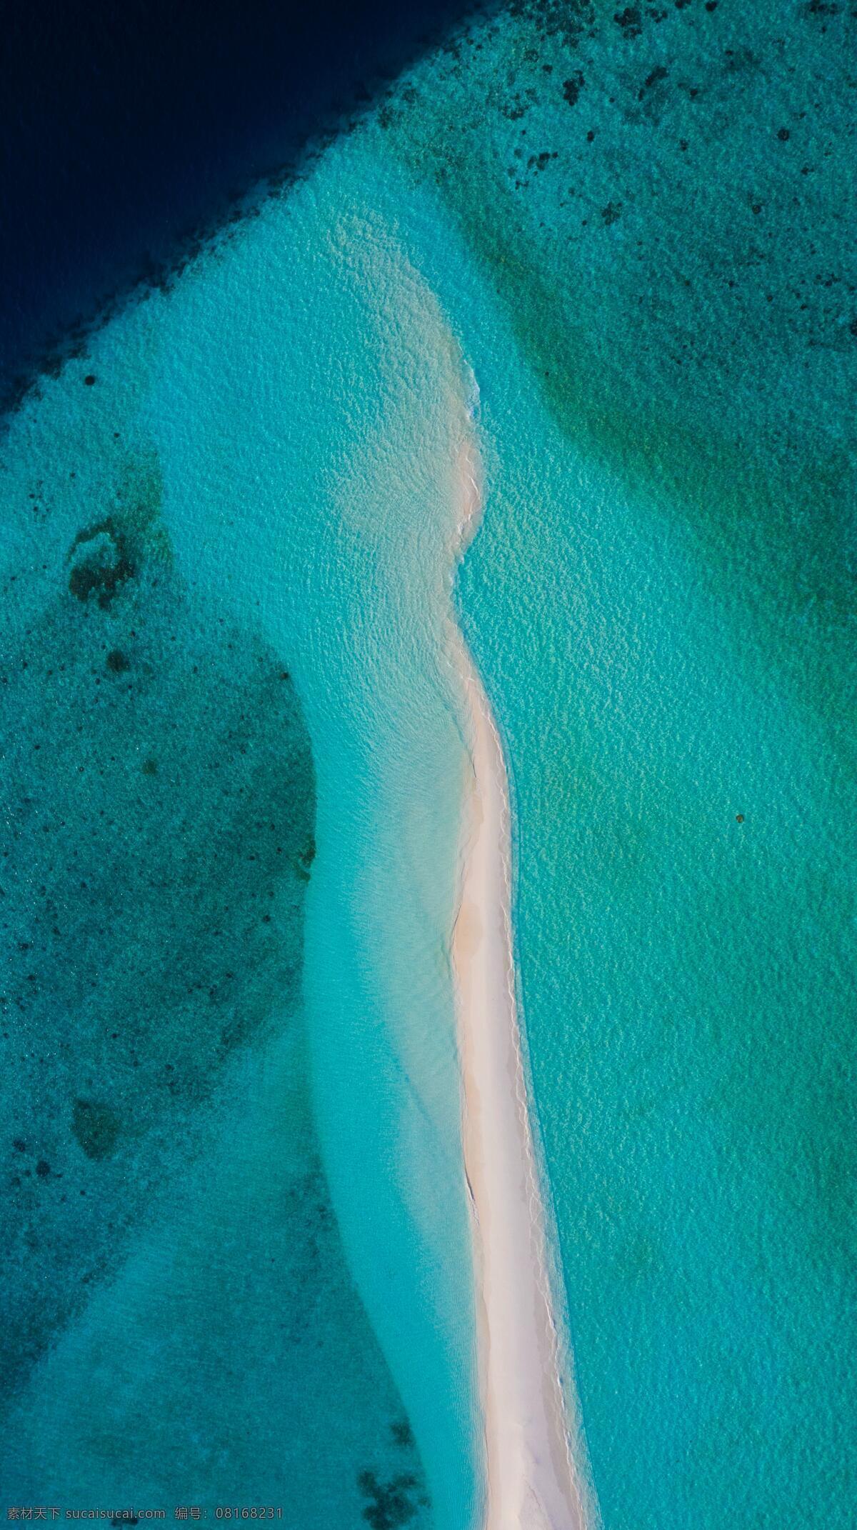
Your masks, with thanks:
M 312 1117 L 303 708 L 89 376 L 0 461 L 0 1480 L 425 1524 Z

